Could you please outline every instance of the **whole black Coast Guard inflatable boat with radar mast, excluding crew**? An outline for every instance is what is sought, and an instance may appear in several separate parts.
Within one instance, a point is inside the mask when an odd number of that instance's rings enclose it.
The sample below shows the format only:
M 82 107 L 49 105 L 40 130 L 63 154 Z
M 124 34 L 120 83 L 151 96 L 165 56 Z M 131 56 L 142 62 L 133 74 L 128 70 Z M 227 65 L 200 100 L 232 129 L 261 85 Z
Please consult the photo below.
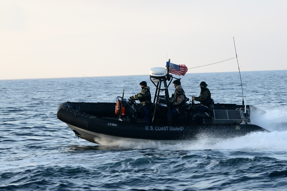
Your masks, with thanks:
M 250 113 L 266 113 L 251 105 L 212 102 L 208 112 L 200 113 L 196 110 L 199 103 L 186 98 L 181 113 L 171 117 L 167 103 L 168 87 L 173 78 L 166 68 L 151 68 L 150 81 L 156 91 L 150 124 L 139 115 L 140 106 L 134 100 L 124 98 L 124 90 L 122 96 L 116 98 L 116 103 L 62 103 L 57 117 L 67 123 L 77 137 L 98 144 L 123 140 L 172 144 L 203 136 L 232 138 L 267 131 L 251 124 Z

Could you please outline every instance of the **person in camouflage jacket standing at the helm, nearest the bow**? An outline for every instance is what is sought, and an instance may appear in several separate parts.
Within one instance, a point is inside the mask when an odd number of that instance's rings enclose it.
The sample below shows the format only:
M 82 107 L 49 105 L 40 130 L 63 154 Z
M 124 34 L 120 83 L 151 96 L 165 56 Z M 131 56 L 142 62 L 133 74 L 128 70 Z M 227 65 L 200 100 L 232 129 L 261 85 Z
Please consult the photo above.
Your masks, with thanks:
M 141 86 L 141 91 L 134 96 L 129 97 L 130 99 L 139 100 L 141 103 L 141 108 L 144 110 L 144 119 L 146 123 L 150 123 L 150 109 L 152 107 L 152 97 L 150 95 L 150 87 L 147 86 L 146 81 L 139 83 Z

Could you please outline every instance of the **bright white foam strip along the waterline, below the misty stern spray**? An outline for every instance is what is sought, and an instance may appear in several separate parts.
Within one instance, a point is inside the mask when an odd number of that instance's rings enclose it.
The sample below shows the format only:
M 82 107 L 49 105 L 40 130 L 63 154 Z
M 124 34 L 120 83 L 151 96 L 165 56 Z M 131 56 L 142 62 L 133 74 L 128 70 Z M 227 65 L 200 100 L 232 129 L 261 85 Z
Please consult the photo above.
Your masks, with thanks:
M 98 140 L 97 140 L 98 141 Z M 160 141 L 115 141 L 113 143 L 101 140 L 101 145 L 119 149 L 157 149 L 157 150 L 284 150 L 287 151 L 287 131 L 256 132 L 243 137 L 230 139 L 214 139 L 202 135 L 196 141 L 177 141 L 174 144 L 165 144 Z

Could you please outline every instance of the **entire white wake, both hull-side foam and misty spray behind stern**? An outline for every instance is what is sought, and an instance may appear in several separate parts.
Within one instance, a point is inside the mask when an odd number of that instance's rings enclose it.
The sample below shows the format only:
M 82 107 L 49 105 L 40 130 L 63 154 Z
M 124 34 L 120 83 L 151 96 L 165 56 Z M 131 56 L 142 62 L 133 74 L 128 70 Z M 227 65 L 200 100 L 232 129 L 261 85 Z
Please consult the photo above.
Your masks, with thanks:
M 251 116 L 253 124 L 271 132 L 256 132 L 230 139 L 216 139 L 208 134 L 199 135 L 198 140 L 185 140 L 170 143 L 161 141 L 115 141 L 96 140 L 100 145 L 125 149 L 158 149 L 158 150 L 208 150 L 208 149 L 264 149 L 287 151 L 287 109 L 266 109 L 267 115 Z

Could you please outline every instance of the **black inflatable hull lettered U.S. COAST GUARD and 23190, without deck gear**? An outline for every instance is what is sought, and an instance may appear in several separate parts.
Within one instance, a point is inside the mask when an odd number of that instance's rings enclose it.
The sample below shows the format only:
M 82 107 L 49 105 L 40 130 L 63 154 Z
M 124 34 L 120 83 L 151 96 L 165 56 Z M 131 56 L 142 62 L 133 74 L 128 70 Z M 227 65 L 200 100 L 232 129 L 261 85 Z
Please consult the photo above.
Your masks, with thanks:
M 101 144 L 102 141 L 113 142 L 121 140 L 153 140 L 173 143 L 182 140 L 201 139 L 202 137 L 232 138 L 244 136 L 252 132 L 267 131 L 253 124 L 187 125 L 124 122 L 117 120 L 114 114 L 115 103 L 105 103 L 106 108 L 103 108 L 103 105 L 101 105 L 101 107 L 93 107 L 94 109 L 89 105 L 100 103 L 82 103 L 80 106 L 86 112 L 73 109 L 75 106 L 71 104 L 73 103 L 59 105 L 57 117 L 67 123 L 76 136 L 98 144 Z M 85 107 L 87 108 L 85 109 Z M 111 108 L 113 108 L 113 111 L 111 111 Z M 100 111 L 96 111 L 95 109 Z

